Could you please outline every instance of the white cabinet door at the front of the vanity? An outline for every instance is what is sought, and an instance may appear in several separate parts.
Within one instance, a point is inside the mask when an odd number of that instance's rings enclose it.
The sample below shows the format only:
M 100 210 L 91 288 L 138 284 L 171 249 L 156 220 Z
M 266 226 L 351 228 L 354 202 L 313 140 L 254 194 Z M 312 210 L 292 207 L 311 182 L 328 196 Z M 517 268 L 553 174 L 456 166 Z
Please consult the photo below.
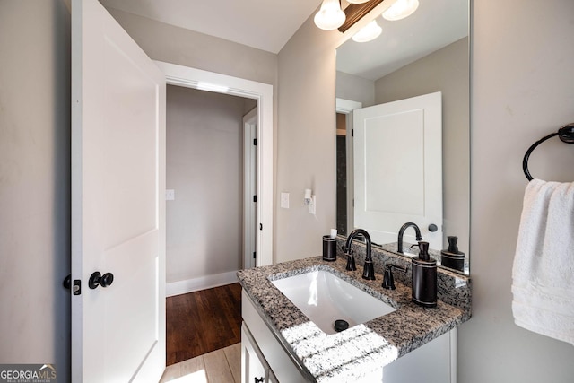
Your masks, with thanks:
M 269 372 L 263 354 L 244 323 L 241 326 L 241 383 L 266 383 Z

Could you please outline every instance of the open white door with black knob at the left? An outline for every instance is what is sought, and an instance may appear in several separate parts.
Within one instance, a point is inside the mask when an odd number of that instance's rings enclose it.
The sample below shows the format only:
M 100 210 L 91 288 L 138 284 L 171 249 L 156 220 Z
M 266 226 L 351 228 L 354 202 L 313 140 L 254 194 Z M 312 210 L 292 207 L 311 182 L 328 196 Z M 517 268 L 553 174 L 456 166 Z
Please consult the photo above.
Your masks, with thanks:
M 97 0 L 73 1 L 72 49 L 72 380 L 158 381 L 165 77 Z

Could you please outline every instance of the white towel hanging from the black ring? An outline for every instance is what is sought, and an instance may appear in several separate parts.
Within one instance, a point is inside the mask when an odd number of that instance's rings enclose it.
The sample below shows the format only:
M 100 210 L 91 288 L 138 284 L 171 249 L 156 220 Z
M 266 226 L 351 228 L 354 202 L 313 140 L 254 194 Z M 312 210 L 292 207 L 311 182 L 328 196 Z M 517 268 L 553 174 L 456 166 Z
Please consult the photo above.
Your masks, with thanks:
M 512 294 L 517 326 L 574 344 L 574 182 L 528 183 Z

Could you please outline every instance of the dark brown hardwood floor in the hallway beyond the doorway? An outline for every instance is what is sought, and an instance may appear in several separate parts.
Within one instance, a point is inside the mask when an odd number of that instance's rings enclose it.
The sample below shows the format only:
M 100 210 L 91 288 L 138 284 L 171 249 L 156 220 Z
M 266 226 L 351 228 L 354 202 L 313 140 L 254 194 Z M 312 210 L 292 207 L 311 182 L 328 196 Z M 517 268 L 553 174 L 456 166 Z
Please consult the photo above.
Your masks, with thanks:
M 167 365 L 241 341 L 241 286 L 227 284 L 166 300 Z

